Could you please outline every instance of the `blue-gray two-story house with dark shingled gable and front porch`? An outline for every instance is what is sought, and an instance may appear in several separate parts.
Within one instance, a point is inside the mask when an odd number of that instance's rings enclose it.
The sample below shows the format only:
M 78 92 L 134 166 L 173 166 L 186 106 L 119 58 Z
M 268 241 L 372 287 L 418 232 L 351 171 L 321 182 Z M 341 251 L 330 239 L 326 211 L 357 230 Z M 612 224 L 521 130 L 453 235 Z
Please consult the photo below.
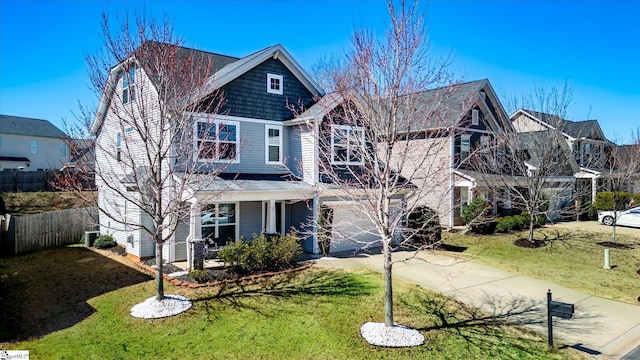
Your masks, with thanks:
M 318 253 L 313 224 L 319 204 L 331 200 L 331 205 L 341 205 L 331 194 L 327 197 L 320 192 L 323 187 L 318 175 L 314 121 L 323 118 L 324 107 L 313 105 L 324 91 L 282 45 L 270 46 L 244 58 L 186 48 L 184 51 L 199 52 L 215 64 L 211 74 L 212 85 L 207 90 L 222 92 L 225 103 L 221 109 L 224 115 L 214 114 L 213 121 L 227 134 L 233 135 L 226 141 L 231 142 L 227 146 L 232 146 L 234 151 L 203 154 L 206 158 L 198 159 L 212 163 L 225 161 L 227 166 L 207 183 L 206 188 L 198 190 L 189 221 L 179 225 L 172 240 L 165 243 L 163 257 L 172 262 L 186 259 L 187 238 L 209 237 L 219 246 L 224 246 L 236 239 L 250 239 L 253 234 L 291 230 L 301 236 L 304 251 Z M 134 141 L 127 140 L 113 126 L 112 107 L 126 100 L 120 94 L 125 95 L 124 91 L 131 89 L 127 86 L 129 84 L 123 83 L 124 69 L 118 66 L 112 69 L 109 79 L 116 86 L 105 92 L 92 125 L 97 142 L 97 168 L 109 161 L 101 149 Z M 136 86 L 152 83 L 145 70 L 143 66 L 135 68 Z M 288 106 L 292 103 L 311 111 L 296 117 Z M 212 114 L 190 115 L 211 121 Z M 194 144 L 218 141 L 215 137 L 210 139 L 201 134 L 197 122 L 195 126 L 196 129 L 186 129 L 193 133 Z M 117 139 L 117 144 L 112 144 L 114 139 Z M 123 173 L 121 184 L 116 186 L 126 188 L 128 181 L 128 175 Z M 110 200 L 120 211 L 126 212 L 132 222 L 144 221 L 140 210 L 127 208 L 127 204 L 118 202 L 117 196 L 105 184 L 98 179 L 96 182 L 102 205 Z M 348 204 L 342 205 L 348 207 Z M 195 226 L 189 223 L 195 223 Z M 126 246 L 131 257 L 154 256 L 154 243 L 141 230 L 114 224 L 101 213 L 100 231 L 113 234 L 118 244 Z M 355 249 L 358 245 L 345 240 L 336 241 L 332 246 L 333 251 L 342 251 Z

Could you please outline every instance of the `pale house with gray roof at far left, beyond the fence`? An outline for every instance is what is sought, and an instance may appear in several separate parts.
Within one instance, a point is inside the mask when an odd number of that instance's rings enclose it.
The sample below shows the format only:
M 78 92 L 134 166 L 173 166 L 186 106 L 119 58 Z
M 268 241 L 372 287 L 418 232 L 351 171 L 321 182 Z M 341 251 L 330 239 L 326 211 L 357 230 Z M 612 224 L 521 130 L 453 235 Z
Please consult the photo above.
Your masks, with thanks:
M 47 120 L 0 115 L 0 171 L 60 169 L 68 136 Z

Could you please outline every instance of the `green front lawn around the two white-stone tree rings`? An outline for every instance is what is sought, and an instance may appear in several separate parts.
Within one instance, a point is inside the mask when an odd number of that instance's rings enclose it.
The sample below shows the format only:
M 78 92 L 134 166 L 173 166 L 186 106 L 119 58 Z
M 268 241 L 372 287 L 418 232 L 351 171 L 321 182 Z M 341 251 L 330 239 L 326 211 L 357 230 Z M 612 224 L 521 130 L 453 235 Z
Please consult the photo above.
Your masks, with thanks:
M 129 311 L 153 295 L 154 283 L 130 271 L 79 247 L 0 259 L 3 301 L 20 313 L 14 320 L 51 323 L 16 326 L 13 337 L 23 340 L 9 339 L 3 348 L 29 350 L 36 359 L 581 358 L 571 349 L 549 351 L 538 335 L 402 282 L 395 284 L 396 322 L 419 329 L 427 341 L 405 349 L 371 346 L 359 328 L 382 320 L 382 280 L 364 270 L 312 268 L 242 287 L 167 284 L 167 293 L 186 295 L 194 306 L 170 318 L 136 319 Z

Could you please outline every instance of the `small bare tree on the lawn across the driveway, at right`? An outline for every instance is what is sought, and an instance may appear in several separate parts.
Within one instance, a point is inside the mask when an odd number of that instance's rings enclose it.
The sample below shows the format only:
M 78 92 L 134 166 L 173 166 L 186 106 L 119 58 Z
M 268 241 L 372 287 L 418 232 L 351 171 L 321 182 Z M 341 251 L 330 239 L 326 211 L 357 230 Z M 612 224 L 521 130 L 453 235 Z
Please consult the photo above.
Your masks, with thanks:
M 496 208 L 529 213 L 530 242 L 539 217 L 557 220 L 578 195 L 574 175 L 580 169 L 563 134 L 571 103 L 567 82 L 561 89 L 536 87 L 521 102 L 512 99 L 512 108 L 519 109 L 512 115 L 517 132 L 498 135 L 469 159 Z

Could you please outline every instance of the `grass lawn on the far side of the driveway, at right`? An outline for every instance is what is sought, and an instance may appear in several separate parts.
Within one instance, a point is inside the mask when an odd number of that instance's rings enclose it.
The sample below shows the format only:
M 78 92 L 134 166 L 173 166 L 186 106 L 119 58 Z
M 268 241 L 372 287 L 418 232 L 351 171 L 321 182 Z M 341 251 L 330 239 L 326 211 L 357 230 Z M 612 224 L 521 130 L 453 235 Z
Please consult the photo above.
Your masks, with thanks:
M 618 242 L 627 249 L 610 248 L 613 269 L 603 269 L 604 246 L 611 240 L 607 232 L 586 232 L 549 227 L 537 230 L 535 238 L 546 239 L 547 245 L 526 249 L 513 245 L 526 238 L 526 232 L 490 236 L 449 234 L 444 242 L 467 247 L 456 253 L 490 266 L 517 274 L 547 280 L 587 294 L 603 298 L 638 303 L 640 296 L 640 240 L 630 235 L 618 235 Z

